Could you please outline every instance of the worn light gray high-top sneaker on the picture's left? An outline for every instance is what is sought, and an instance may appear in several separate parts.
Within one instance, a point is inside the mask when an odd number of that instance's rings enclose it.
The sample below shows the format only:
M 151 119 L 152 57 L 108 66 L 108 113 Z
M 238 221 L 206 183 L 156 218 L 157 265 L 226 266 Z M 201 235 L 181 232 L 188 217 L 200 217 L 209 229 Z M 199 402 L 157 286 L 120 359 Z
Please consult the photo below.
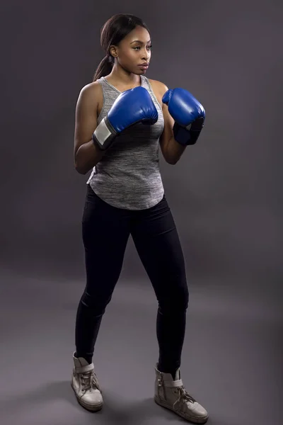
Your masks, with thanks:
M 96 373 L 94 372 L 94 365 L 83 358 L 74 358 L 73 375 L 71 376 L 71 387 L 73 388 L 76 398 L 85 409 L 91 412 L 98 412 L 103 407 L 102 391 Z

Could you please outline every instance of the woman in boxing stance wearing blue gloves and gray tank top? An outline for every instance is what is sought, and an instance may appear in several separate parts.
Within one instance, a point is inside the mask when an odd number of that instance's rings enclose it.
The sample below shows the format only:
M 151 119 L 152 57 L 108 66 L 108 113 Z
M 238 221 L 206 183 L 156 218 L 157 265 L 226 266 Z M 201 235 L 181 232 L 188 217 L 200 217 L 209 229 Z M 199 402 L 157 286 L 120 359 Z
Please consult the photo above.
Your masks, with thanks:
M 166 162 L 176 164 L 185 147 L 196 142 L 204 109 L 189 92 L 168 90 L 145 77 L 151 40 L 139 18 L 112 16 L 103 26 L 101 45 L 106 56 L 76 106 L 76 171 L 93 171 L 82 219 L 87 279 L 76 315 L 71 386 L 83 407 L 101 409 L 93 351 L 131 234 L 158 300 L 154 399 L 187 420 L 204 423 L 207 411 L 180 380 L 189 295 L 158 163 L 159 145 Z

